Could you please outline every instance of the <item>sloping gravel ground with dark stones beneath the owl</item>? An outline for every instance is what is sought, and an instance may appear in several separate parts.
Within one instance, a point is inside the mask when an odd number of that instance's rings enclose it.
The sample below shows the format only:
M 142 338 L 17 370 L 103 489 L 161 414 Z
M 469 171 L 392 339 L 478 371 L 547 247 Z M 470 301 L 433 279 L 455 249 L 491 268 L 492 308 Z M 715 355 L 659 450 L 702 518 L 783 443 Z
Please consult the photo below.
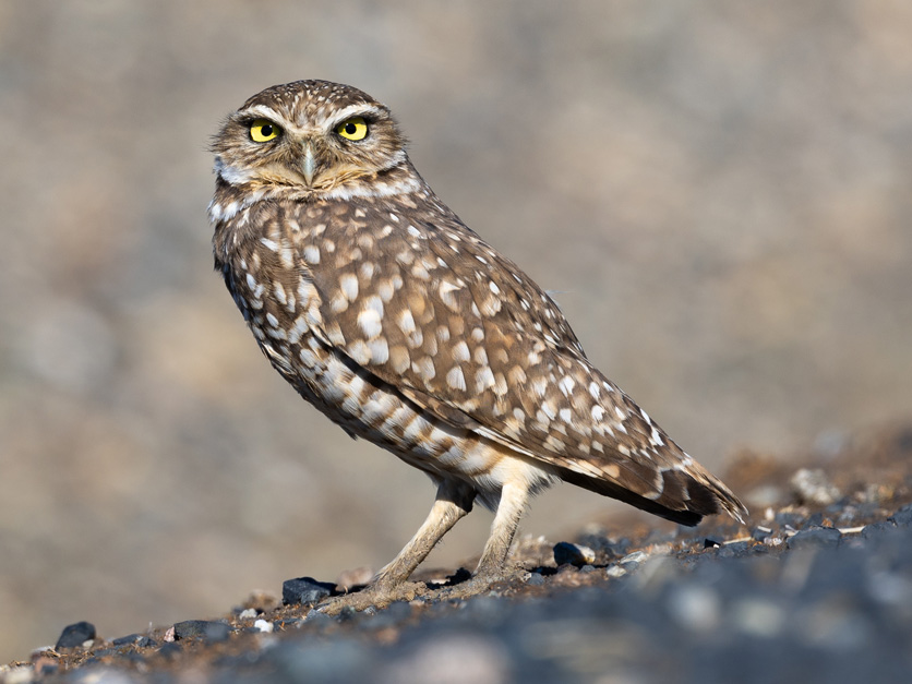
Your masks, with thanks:
M 299 578 L 221 619 L 113 639 L 77 623 L 0 683 L 910 681 L 912 427 L 790 466 L 745 453 L 730 479 L 769 500 L 745 527 L 527 538 L 523 578 L 466 601 L 328 617 L 296 601 L 335 585 Z

